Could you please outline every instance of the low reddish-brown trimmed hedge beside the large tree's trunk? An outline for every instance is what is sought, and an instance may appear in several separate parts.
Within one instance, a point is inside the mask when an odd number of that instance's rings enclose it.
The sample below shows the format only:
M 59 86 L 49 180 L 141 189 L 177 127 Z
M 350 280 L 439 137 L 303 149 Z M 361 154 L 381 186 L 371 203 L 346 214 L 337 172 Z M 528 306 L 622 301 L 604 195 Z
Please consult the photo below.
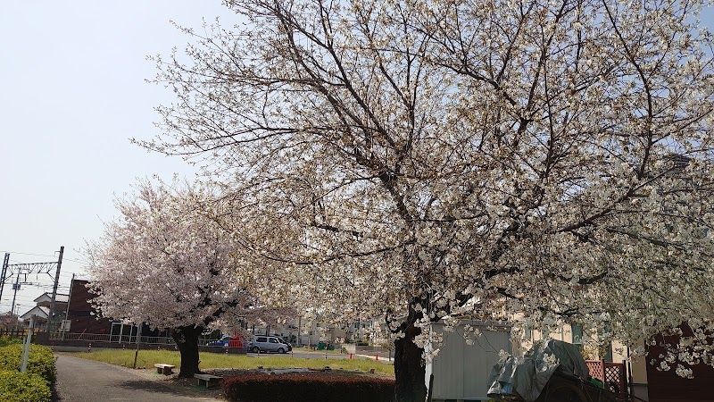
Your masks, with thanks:
M 250 373 L 224 379 L 223 393 L 234 402 L 391 402 L 394 399 L 394 380 L 302 373 Z

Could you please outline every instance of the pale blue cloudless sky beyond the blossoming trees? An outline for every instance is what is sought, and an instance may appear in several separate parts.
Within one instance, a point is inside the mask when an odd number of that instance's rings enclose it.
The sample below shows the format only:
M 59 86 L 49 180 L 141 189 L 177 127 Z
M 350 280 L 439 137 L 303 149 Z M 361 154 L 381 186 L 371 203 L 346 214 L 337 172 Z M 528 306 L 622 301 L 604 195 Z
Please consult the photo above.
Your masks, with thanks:
M 712 25 L 711 11 L 702 21 Z M 79 248 L 116 215 L 115 195 L 137 178 L 192 176 L 180 158 L 149 154 L 128 138 L 156 134 L 154 106 L 170 92 L 146 84 L 147 54 L 168 54 L 188 38 L 171 24 L 236 16 L 220 0 L 0 3 L 0 258 L 11 264 L 56 261 L 65 247 L 60 291 L 81 274 Z M 21 254 L 24 253 L 24 254 Z M 20 312 L 44 291 L 47 275 L 28 278 Z M 7 284 L 0 312 L 10 309 Z

